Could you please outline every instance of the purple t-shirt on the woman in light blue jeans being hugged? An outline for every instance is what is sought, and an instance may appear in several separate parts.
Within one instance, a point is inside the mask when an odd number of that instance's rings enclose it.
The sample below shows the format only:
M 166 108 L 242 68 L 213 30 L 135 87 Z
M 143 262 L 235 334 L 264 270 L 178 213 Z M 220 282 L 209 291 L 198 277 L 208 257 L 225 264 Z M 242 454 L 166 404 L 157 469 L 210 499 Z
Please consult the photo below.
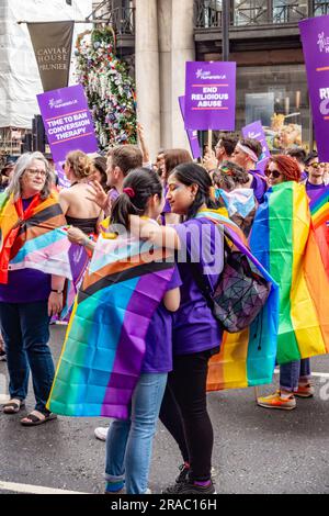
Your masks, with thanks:
M 181 287 L 182 281 L 177 266 L 174 266 L 171 280 L 167 284 L 169 290 Z M 172 315 L 163 302 L 156 310 L 146 335 L 146 352 L 141 372 L 169 372 L 172 370 Z

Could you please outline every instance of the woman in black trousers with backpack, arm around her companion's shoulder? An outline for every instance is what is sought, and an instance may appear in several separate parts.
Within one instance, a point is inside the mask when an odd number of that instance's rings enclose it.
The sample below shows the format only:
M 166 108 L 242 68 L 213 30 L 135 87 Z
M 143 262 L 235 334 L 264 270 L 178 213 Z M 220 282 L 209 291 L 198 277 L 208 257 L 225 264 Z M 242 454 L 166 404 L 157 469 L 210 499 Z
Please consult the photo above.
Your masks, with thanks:
M 180 481 L 166 493 L 215 492 L 211 479 L 214 437 L 206 406 L 206 378 L 209 358 L 219 351 L 222 329 L 195 279 L 196 274 L 204 274 L 214 290 L 224 266 L 223 235 L 203 215 L 203 210 L 216 207 L 211 188 L 204 168 L 193 162 L 179 165 L 168 178 L 167 199 L 172 212 L 185 222 L 157 227 L 132 217 L 133 232 L 141 238 L 177 249 L 183 281 L 181 305 L 173 316 L 173 370 L 160 418 L 179 444 L 185 464 Z

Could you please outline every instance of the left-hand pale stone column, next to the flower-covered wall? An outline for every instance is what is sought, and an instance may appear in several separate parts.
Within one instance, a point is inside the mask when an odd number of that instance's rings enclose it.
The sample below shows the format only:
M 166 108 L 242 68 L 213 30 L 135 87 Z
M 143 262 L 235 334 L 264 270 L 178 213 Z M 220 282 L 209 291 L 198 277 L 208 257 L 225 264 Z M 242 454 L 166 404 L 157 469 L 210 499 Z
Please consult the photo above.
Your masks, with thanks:
M 136 1 L 137 116 L 145 127 L 150 157 L 160 147 L 160 86 L 157 0 Z

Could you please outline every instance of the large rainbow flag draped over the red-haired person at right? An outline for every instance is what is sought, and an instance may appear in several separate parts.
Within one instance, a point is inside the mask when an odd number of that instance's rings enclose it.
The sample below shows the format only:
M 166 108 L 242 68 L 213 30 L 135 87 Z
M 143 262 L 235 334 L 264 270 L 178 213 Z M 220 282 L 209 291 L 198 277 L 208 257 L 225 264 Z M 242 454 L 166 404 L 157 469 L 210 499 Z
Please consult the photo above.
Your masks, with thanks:
M 329 249 L 321 255 L 315 227 L 324 225 L 321 206 L 311 204 L 313 223 L 305 187 L 288 181 L 269 190 L 253 222 L 252 253 L 280 285 L 279 364 L 329 352 Z

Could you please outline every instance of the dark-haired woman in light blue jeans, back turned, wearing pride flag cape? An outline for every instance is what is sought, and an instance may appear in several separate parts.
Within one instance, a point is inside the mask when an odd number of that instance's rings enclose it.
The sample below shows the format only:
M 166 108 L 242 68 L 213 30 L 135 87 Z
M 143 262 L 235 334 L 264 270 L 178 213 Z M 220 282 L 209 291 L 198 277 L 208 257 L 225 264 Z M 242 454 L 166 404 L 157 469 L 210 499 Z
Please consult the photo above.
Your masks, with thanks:
M 123 193 L 115 201 L 111 227 L 129 231 L 129 216 L 147 217 L 157 227 L 163 207 L 162 186 L 149 169 L 133 170 L 125 179 Z M 168 372 L 172 369 L 171 312 L 180 304 L 178 269 L 167 284 L 162 303 L 156 310 L 146 336 L 141 373 L 134 391 L 131 417 L 114 419 L 106 437 L 106 492 L 126 486 L 127 494 L 146 494 L 152 438 L 159 416 Z

